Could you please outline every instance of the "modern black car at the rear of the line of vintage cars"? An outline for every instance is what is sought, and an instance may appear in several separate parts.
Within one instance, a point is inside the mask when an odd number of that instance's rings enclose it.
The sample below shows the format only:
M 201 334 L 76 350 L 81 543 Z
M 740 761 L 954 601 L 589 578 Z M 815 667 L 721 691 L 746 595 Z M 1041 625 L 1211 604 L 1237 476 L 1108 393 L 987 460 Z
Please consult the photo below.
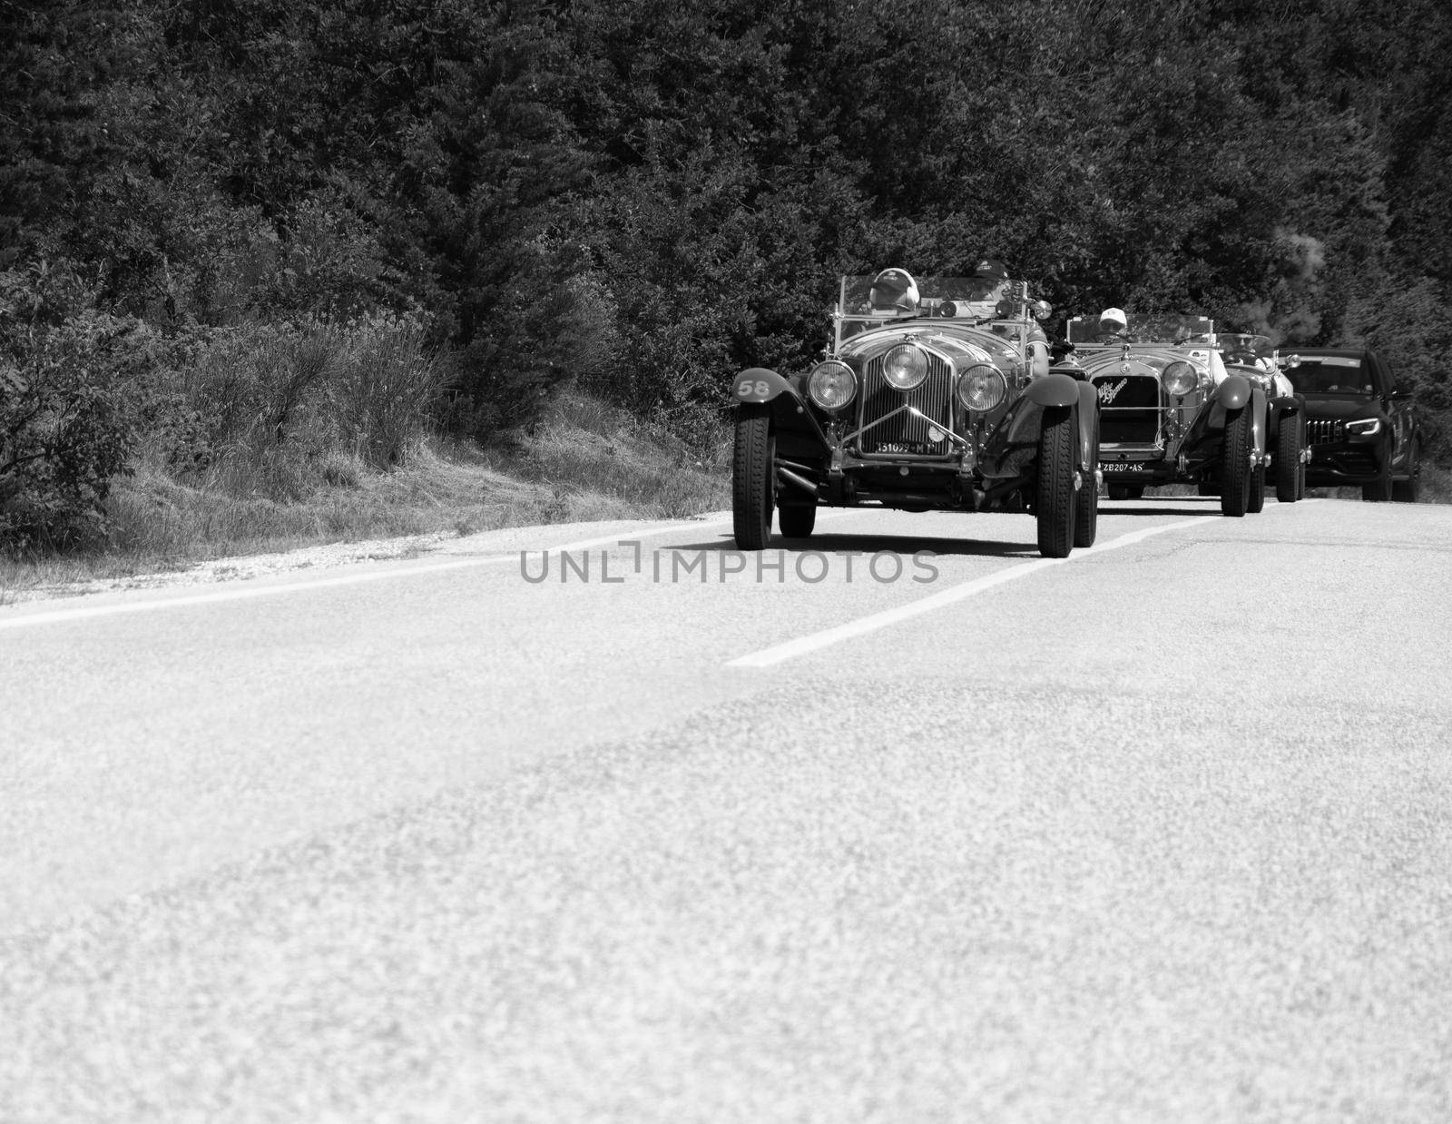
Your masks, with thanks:
M 1362 500 L 1416 502 L 1422 431 L 1411 398 L 1366 349 L 1281 349 L 1281 367 L 1305 399 L 1311 488 L 1361 485 Z

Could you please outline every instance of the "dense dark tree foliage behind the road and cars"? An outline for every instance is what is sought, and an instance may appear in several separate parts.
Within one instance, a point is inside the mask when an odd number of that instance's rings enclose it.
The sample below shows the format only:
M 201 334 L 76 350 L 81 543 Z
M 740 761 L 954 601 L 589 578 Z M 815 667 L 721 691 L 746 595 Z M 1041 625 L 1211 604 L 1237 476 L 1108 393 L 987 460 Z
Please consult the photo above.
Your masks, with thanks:
M 0 0 L 0 57 L 12 280 L 113 334 L 423 317 L 479 437 L 571 379 L 688 431 L 838 273 L 987 254 L 1371 343 L 1452 453 L 1440 0 Z

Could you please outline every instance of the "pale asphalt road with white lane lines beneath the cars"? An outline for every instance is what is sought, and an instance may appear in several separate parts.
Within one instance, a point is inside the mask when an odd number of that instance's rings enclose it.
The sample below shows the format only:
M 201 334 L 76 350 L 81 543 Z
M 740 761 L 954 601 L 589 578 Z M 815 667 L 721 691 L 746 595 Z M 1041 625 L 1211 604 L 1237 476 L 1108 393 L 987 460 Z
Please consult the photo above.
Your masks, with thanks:
M 819 532 L 0 608 L 0 1121 L 1452 1120 L 1452 507 Z

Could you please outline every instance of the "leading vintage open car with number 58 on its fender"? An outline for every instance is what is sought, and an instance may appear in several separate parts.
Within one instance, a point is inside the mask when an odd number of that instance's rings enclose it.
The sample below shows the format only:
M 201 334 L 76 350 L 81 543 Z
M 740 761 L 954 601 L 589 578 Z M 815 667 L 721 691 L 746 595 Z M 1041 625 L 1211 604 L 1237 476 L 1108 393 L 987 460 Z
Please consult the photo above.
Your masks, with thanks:
M 889 273 L 906 286 L 884 295 Z M 741 372 L 736 545 L 762 549 L 774 511 L 783 536 L 800 539 L 819 505 L 878 505 L 1028 507 L 1045 558 L 1090 546 L 1098 399 L 1088 382 L 1034 370 L 1034 318 L 1048 306 L 1008 285 L 1003 296 L 983 277 L 842 277 L 820 362 L 790 376 Z

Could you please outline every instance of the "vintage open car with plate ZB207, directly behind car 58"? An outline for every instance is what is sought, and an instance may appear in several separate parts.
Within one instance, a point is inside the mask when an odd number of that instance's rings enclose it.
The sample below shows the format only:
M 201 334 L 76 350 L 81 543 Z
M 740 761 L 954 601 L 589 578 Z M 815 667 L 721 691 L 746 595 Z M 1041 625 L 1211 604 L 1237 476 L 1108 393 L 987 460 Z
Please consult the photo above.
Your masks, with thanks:
M 1066 334 L 1099 396 L 1099 469 L 1109 498 L 1183 482 L 1218 492 L 1225 516 L 1260 508 L 1270 395 L 1257 379 L 1225 369 L 1214 321 L 1131 314 L 1125 334 L 1106 338 L 1098 318 L 1073 317 Z

